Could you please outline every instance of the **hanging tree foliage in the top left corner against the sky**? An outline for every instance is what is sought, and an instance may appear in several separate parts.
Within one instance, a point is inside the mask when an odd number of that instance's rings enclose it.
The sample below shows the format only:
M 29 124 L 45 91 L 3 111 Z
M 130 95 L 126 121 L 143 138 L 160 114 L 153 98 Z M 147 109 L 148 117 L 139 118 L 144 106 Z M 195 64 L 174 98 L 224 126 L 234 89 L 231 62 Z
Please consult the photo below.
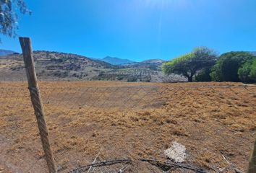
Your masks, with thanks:
M 17 36 L 18 15 L 15 9 L 21 14 L 31 14 L 23 0 L 0 0 L 0 34 L 8 37 Z M 0 38 L 1 42 L 1 38 Z

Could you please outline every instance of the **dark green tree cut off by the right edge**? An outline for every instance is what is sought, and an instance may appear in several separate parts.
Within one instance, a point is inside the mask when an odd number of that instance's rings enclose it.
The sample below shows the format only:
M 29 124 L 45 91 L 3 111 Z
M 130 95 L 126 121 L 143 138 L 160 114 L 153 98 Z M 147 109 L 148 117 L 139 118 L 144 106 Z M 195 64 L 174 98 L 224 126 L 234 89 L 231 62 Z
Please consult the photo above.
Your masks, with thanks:
M 256 57 L 244 62 L 238 69 L 238 76 L 243 82 L 256 82 Z

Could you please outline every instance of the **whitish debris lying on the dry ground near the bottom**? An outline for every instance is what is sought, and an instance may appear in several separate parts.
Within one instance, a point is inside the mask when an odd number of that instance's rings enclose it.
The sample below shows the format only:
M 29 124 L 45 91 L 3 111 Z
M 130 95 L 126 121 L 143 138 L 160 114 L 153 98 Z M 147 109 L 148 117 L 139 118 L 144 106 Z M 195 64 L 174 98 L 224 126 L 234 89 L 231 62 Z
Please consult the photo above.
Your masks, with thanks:
M 170 148 L 164 151 L 164 154 L 176 163 L 182 163 L 186 159 L 186 147 L 175 141 Z

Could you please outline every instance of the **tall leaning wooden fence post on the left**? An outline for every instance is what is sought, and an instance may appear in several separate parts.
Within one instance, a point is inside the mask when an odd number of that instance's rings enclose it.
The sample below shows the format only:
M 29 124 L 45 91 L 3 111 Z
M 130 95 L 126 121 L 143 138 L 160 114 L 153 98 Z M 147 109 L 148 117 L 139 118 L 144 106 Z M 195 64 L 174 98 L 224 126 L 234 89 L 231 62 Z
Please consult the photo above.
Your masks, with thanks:
M 50 173 L 56 173 L 56 165 L 54 163 L 54 156 L 51 151 L 51 146 L 48 139 L 48 129 L 44 118 L 43 103 L 41 101 L 40 91 L 38 88 L 38 81 L 35 74 L 35 65 L 33 60 L 31 40 L 29 37 L 20 37 L 19 40 L 22 48 L 23 60 L 25 63 L 28 89 L 30 90 L 31 102 L 35 110 L 36 120 L 38 122 L 40 139 L 43 145 L 44 154 L 46 156 L 48 170 Z

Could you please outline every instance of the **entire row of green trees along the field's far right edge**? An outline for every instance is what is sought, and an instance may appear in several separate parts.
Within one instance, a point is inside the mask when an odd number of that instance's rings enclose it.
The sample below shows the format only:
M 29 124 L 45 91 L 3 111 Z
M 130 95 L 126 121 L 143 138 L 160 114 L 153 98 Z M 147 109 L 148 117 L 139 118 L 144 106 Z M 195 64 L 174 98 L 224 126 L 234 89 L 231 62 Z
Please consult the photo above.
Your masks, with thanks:
M 218 56 L 215 50 L 200 47 L 163 63 L 165 74 L 181 74 L 188 81 L 256 82 L 256 56 L 229 52 Z

